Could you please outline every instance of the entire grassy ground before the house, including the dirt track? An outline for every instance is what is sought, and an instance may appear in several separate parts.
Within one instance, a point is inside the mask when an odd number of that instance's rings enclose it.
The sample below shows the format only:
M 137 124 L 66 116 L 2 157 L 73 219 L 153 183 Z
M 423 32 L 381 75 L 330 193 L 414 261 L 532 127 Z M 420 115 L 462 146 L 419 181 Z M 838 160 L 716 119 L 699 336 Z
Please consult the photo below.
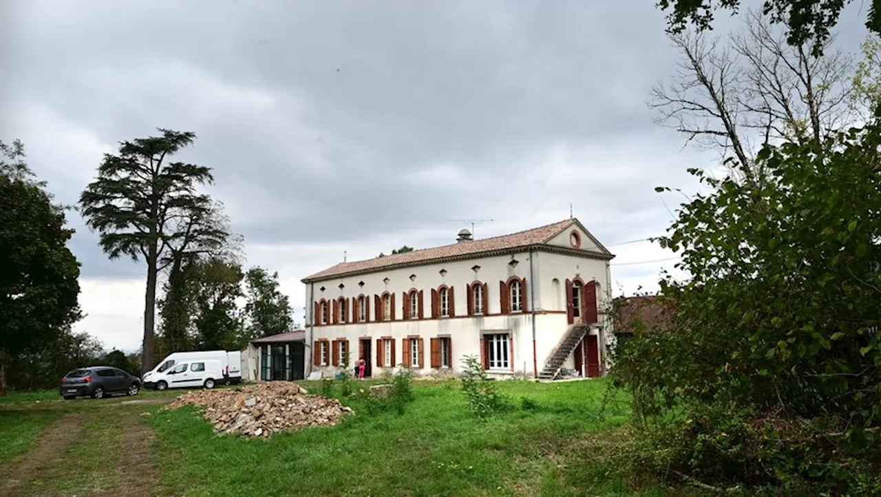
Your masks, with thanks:
M 15 393 L 0 402 L 0 494 L 698 494 L 635 486 L 597 462 L 596 447 L 627 440 L 627 399 L 610 397 L 605 381 L 496 384 L 513 408 L 485 421 L 459 382 L 415 381 L 403 415 L 343 398 L 355 414 L 339 425 L 268 440 L 217 435 L 194 407 L 160 410 L 180 390 L 73 401 Z

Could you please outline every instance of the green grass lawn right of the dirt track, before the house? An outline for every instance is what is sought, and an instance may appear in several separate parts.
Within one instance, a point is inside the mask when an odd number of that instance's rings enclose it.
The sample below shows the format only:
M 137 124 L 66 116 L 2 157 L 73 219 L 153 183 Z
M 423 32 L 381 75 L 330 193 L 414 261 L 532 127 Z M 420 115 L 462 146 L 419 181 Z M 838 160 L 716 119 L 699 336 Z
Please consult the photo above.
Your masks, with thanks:
M 368 414 L 346 398 L 356 415 L 337 427 L 270 440 L 217 436 L 195 408 L 152 422 L 163 478 L 188 495 L 633 494 L 603 468 L 579 464 L 575 450 L 580 437 L 626 423 L 623 396 L 601 413 L 603 381 L 498 385 L 515 409 L 486 421 L 467 410 L 460 384 L 450 381 L 414 382 L 416 399 L 403 415 Z M 523 409 L 522 398 L 535 406 Z

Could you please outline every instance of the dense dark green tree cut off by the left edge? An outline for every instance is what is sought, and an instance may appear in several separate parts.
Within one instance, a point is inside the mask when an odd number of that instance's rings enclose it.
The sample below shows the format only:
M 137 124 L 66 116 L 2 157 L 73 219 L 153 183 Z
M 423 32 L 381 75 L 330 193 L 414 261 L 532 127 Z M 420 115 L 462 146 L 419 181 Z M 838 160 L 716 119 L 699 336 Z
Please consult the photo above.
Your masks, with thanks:
M 0 394 L 5 364 L 33 353 L 79 317 L 79 263 L 67 247 L 63 208 L 53 205 L 23 158 L 0 142 Z

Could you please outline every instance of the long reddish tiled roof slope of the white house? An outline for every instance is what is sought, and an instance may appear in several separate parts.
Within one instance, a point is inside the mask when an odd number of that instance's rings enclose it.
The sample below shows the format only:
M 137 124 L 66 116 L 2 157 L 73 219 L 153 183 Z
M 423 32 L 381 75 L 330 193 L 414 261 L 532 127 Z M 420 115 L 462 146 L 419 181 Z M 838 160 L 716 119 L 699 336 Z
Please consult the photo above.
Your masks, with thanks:
M 483 252 L 494 252 L 530 245 L 541 245 L 554 238 L 560 231 L 577 224 L 577 219 L 566 219 L 559 223 L 547 224 L 531 230 L 519 231 L 500 237 L 482 238 L 455 244 L 442 245 L 411 252 L 396 253 L 374 259 L 341 262 L 323 271 L 303 278 L 303 282 L 316 281 L 341 274 L 369 273 L 384 267 L 424 263 L 434 259 L 448 259 L 460 256 L 477 255 Z

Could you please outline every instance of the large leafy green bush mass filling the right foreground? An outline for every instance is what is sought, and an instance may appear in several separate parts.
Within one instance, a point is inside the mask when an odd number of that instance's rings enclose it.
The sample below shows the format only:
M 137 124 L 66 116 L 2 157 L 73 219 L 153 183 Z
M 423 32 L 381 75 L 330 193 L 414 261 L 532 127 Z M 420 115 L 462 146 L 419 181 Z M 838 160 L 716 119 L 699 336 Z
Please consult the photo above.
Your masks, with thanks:
M 879 145 L 871 125 L 766 147 L 759 181 L 690 171 L 709 193 L 659 241 L 691 277 L 666 275 L 665 318 L 611 352 L 649 444 L 640 471 L 881 492 Z

